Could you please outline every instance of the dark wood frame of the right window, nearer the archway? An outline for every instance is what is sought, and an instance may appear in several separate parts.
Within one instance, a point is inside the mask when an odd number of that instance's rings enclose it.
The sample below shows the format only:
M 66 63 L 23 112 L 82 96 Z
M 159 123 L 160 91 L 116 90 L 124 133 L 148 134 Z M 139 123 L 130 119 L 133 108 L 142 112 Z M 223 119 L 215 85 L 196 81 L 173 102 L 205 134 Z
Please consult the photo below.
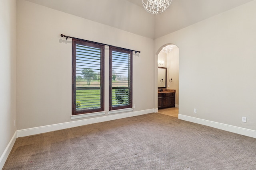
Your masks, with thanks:
M 122 106 L 112 106 L 112 51 L 120 52 L 120 53 L 127 53 L 130 55 L 130 104 L 122 105 Z M 109 111 L 117 110 L 117 109 L 126 109 L 132 108 L 132 51 L 128 49 L 123 49 L 119 47 L 109 47 Z

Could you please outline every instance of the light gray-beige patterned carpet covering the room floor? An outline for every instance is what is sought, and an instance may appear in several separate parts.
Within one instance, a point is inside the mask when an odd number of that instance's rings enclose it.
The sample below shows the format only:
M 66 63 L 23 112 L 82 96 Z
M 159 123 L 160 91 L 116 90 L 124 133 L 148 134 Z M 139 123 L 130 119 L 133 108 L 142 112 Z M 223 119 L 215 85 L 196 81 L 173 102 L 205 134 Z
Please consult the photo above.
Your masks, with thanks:
M 256 139 L 150 113 L 20 137 L 4 170 L 255 170 Z

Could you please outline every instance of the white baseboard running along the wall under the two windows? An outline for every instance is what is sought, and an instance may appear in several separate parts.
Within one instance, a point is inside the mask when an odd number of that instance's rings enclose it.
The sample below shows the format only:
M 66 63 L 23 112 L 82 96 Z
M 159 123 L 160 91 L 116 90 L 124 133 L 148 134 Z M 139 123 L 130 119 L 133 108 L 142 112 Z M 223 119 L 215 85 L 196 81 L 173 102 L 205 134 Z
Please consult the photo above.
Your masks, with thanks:
M 92 123 L 99 123 L 99 122 L 110 121 L 115 119 L 122 119 L 126 117 L 144 115 L 144 114 L 154 113 L 154 112 L 155 112 L 155 109 L 147 109 L 147 110 L 133 111 L 128 113 L 111 114 L 107 116 L 94 117 L 94 118 L 78 120 L 78 121 L 58 123 L 54 125 L 46 125 L 46 126 L 40 126 L 40 127 L 33 127 L 29 129 L 22 129 L 22 130 L 17 130 L 17 137 L 36 135 L 36 134 L 46 133 L 50 131 L 57 131 L 61 129 L 71 128 L 71 127 L 83 126 L 83 125 L 88 125 Z

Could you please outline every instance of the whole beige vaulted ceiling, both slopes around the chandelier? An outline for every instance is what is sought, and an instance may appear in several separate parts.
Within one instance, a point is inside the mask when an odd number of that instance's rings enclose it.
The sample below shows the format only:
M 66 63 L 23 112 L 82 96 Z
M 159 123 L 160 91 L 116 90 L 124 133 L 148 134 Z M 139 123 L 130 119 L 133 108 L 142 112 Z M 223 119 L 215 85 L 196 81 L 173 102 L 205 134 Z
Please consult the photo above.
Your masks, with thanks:
M 172 0 L 162 14 L 146 12 L 141 0 L 26 0 L 156 39 L 252 0 Z

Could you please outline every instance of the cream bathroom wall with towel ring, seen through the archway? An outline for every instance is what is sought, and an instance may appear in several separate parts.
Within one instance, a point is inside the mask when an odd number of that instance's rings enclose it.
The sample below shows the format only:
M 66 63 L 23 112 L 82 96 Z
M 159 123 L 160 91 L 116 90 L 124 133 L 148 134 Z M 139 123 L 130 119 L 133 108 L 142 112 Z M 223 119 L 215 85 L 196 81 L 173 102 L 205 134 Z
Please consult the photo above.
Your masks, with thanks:
M 173 50 L 167 54 L 167 89 L 176 90 L 175 107 L 179 104 L 179 48 L 172 45 Z M 172 79 L 172 80 L 170 80 Z M 170 82 L 171 81 L 171 82 Z M 169 86 L 168 86 L 169 85 Z

